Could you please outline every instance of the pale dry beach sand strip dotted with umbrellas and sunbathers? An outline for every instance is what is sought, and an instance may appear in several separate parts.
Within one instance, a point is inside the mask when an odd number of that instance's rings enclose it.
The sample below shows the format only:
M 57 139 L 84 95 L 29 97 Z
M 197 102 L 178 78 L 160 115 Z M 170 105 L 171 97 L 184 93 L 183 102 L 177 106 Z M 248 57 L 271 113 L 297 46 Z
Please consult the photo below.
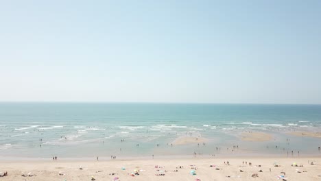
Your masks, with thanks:
M 95 159 L 95 158 L 93 158 Z M 313 160 L 316 165 L 308 165 Z M 230 162 L 230 165 L 224 164 Z M 244 164 L 242 163 L 244 161 Z M 252 162 L 252 166 L 245 162 Z M 274 167 L 278 162 L 281 167 Z M 304 167 L 292 167 L 292 163 Z M 311 161 L 310 161 L 311 162 Z M 278 180 L 276 176 L 286 173 L 287 180 L 321 180 L 321 158 L 189 158 L 189 159 L 155 159 L 155 160 L 99 160 L 99 161 L 0 161 L 0 171 L 8 171 L 8 176 L 0 180 L 60 180 L 82 181 L 91 180 Z M 155 168 L 158 165 L 162 168 Z M 195 165 L 195 166 L 190 166 Z M 210 167 L 215 165 L 215 167 Z M 261 165 L 257 167 L 256 165 Z M 82 166 L 83 169 L 79 169 Z M 183 166 L 182 169 L 176 167 Z M 121 170 L 125 167 L 126 170 Z M 191 167 L 197 167 L 196 175 L 189 174 Z M 270 172 L 270 168 L 272 169 Z M 134 170 L 140 169 L 139 176 L 129 176 Z M 219 170 L 217 170 L 219 169 Z M 243 170 L 240 172 L 239 170 Z M 259 172 L 262 169 L 263 172 Z M 157 171 L 159 170 L 159 171 Z M 161 171 L 163 172 L 161 172 Z M 166 172 L 167 171 L 167 172 Z M 298 173 L 300 171 L 301 173 Z M 305 172 L 306 171 L 306 172 Z M 36 174 L 32 177 L 22 177 L 22 172 Z M 59 173 L 66 175 L 60 176 Z M 111 176 L 110 173 L 117 173 Z M 165 176 L 156 176 L 164 173 Z M 252 178 L 257 173 L 258 178 Z M 230 178 L 226 177 L 230 176 Z

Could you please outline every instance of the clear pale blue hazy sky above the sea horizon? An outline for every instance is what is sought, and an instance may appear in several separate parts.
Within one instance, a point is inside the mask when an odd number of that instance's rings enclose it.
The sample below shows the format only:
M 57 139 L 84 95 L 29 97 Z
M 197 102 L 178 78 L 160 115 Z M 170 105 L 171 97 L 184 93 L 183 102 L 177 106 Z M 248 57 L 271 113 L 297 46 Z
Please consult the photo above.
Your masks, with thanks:
M 321 1 L 1 1 L 0 101 L 321 104 Z

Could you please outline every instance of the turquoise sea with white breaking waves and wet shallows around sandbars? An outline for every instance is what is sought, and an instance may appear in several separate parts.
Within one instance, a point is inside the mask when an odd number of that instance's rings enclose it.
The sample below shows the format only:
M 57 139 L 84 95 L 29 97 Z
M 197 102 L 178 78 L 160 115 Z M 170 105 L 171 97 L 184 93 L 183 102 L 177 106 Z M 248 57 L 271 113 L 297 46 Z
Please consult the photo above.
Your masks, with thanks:
M 243 131 L 268 132 L 272 141 L 246 142 Z M 290 136 L 321 130 L 320 105 L 1 103 L 3 157 L 91 157 L 277 154 L 319 155 L 321 138 Z M 209 138 L 175 145 L 179 136 Z M 290 138 L 290 142 L 286 139 Z M 124 139 L 125 141 L 121 142 Z M 169 143 L 169 145 L 167 145 Z M 139 147 L 136 146 L 139 144 Z M 156 147 L 156 144 L 160 144 Z M 41 145 L 41 147 L 40 147 Z M 239 149 L 232 149 L 239 145 Z M 276 148 L 278 145 L 278 148 Z M 216 150 L 220 147 L 221 150 Z M 229 148 L 229 149 L 228 149 Z M 232 151 L 233 150 L 233 151 Z

